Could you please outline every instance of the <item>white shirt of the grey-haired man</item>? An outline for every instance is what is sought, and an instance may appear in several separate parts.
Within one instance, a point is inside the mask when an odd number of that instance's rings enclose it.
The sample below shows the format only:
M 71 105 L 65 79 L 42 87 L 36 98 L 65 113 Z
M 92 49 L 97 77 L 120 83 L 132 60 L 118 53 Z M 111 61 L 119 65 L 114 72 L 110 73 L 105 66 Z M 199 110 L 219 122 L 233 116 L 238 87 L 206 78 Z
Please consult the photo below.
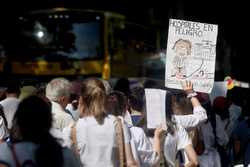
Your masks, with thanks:
M 66 113 L 60 104 L 56 102 L 52 103 L 52 116 L 53 116 L 53 128 L 63 130 L 63 128 L 74 123 L 73 118 L 70 114 Z

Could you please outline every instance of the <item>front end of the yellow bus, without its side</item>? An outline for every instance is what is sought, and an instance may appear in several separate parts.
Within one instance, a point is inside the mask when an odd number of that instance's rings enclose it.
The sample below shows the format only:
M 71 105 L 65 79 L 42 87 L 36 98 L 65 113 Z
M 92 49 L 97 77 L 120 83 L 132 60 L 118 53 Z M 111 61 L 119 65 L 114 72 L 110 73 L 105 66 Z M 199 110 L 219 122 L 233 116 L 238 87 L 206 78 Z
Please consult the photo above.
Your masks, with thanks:
M 112 34 L 123 28 L 124 20 L 114 12 L 66 8 L 20 15 L 2 34 L 0 74 L 109 79 Z

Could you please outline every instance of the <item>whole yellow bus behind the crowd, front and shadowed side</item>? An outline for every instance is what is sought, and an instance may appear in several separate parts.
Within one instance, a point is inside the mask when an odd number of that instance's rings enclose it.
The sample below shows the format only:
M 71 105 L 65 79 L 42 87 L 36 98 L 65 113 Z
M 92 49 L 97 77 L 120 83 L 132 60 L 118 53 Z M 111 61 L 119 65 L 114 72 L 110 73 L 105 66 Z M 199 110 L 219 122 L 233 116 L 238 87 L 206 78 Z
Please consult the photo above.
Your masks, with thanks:
M 164 75 L 154 58 L 155 31 L 125 15 L 54 8 L 31 11 L 12 22 L 1 35 L 1 76 L 108 80 Z

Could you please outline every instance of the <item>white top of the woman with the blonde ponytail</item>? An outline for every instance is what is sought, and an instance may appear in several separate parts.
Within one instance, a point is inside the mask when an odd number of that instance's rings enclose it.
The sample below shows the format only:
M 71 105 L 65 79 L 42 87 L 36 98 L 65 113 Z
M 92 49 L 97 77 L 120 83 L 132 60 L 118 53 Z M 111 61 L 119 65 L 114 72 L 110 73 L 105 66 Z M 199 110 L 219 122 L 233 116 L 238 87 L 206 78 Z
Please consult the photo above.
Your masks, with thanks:
M 76 123 L 77 147 L 84 167 L 113 167 L 118 164 L 116 155 L 116 118 L 108 115 L 100 125 L 92 116 L 80 118 Z M 129 142 L 127 132 L 125 143 Z M 127 136 L 127 137 L 126 137 Z

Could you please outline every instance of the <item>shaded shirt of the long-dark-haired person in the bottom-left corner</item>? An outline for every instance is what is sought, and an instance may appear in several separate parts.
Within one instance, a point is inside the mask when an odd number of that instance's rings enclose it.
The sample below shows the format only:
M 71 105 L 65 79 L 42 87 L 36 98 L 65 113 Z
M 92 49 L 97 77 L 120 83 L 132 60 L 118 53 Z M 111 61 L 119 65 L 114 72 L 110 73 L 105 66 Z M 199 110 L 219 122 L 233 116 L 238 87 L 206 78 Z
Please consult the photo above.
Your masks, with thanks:
M 27 160 L 31 160 L 35 163 L 35 151 L 37 146 L 31 142 L 20 142 L 14 144 L 14 150 L 17 159 L 20 164 L 23 164 Z M 79 167 L 80 163 L 75 158 L 73 153 L 66 148 L 62 148 L 63 151 L 63 167 Z M 16 167 L 13 155 L 7 143 L 0 144 L 0 161 L 9 164 L 10 167 Z

